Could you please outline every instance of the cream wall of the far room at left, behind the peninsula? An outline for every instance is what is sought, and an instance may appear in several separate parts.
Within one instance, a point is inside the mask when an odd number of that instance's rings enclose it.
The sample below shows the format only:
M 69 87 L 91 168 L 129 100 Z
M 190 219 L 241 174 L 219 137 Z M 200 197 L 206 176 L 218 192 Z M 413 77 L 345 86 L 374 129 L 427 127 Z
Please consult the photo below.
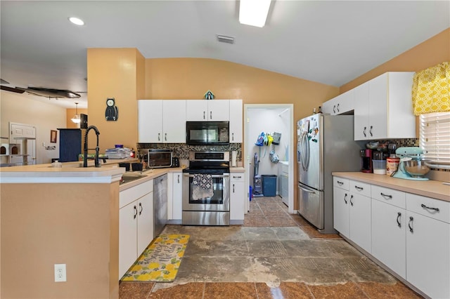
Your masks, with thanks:
M 56 101 L 55 99 L 49 100 Z M 50 143 L 50 130 L 65 128 L 66 109 L 57 105 L 32 100 L 19 93 L 1 91 L 0 94 L 0 137 L 9 136 L 9 121 L 36 126 L 37 164 L 51 163 L 59 157 L 59 131 L 57 143 Z M 1 143 L 8 140 L 1 140 Z M 45 150 L 42 146 L 56 146 L 56 150 Z

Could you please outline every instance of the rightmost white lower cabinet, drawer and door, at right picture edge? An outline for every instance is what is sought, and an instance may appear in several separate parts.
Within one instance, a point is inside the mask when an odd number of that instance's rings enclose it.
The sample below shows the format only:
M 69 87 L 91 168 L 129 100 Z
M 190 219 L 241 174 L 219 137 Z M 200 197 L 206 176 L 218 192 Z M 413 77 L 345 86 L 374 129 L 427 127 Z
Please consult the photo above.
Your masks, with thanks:
M 406 194 L 406 209 L 406 280 L 431 298 L 450 298 L 450 202 Z

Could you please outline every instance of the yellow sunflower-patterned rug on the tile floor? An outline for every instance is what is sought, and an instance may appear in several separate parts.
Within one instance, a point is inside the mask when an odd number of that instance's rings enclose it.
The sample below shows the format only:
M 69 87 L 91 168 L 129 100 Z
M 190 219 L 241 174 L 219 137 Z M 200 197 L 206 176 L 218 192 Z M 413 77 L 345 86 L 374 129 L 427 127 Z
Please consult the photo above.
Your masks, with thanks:
M 188 234 L 161 234 L 143 251 L 121 280 L 174 281 L 188 241 Z

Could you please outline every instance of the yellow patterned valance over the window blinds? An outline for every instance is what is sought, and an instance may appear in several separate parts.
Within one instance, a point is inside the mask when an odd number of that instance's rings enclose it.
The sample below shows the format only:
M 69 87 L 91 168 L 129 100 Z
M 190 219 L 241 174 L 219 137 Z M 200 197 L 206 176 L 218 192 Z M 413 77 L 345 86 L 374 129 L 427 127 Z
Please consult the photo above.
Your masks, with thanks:
M 442 62 L 413 77 L 414 114 L 450 111 L 450 65 Z

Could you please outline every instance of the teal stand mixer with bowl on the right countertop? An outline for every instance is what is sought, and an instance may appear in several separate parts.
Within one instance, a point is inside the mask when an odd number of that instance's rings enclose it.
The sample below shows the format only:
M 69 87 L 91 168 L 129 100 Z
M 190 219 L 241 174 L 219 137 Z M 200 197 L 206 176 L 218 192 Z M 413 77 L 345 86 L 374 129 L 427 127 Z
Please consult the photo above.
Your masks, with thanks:
M 395 151 L 395 155 L 400 158 L 399 169 L 391 176 L 406 180 L 428 180 L 425 174 L 430 171 L 430 167 L 422 154 L 420 147 L 399 147 Z

